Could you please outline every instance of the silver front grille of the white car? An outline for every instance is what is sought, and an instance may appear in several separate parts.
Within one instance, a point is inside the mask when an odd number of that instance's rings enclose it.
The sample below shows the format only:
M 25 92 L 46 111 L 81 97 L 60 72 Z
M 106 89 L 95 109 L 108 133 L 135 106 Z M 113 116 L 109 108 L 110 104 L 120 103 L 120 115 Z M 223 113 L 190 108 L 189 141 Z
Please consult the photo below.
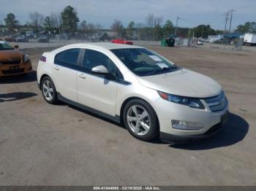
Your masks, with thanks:
M 211 98 L 204 98 L 204 101 L 206 101 L 206 104 L 208 104 L 211 112 L 222 111 L 227 105 L 227 98 L 225 97 L 224 93 Z

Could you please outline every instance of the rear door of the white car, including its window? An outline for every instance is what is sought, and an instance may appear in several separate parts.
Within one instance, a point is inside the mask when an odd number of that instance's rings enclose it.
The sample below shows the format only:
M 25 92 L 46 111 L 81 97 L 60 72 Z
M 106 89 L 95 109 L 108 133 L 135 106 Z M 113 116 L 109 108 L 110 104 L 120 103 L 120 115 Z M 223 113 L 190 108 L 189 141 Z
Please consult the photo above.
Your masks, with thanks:
M 80 54 L 80 48 L 72 48 L 59 52 L 54 59 L 53 77 L 56 90 L 72 101 L 78 101 L 76 77 Z

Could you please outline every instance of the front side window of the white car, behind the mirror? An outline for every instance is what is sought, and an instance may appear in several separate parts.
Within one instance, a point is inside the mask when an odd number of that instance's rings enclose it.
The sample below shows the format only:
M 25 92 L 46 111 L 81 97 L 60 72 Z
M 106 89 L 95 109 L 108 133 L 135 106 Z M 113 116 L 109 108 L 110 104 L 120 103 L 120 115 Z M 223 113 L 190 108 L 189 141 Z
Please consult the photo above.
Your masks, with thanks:
M 96 50 L 85 50 L 82 64 L 89 72 L 95 66 L 102 65 L 105 66 L 114 77 L 121 77 L 121 73 L 118 71 L 116 64 L 102 52 L 98 52 Z

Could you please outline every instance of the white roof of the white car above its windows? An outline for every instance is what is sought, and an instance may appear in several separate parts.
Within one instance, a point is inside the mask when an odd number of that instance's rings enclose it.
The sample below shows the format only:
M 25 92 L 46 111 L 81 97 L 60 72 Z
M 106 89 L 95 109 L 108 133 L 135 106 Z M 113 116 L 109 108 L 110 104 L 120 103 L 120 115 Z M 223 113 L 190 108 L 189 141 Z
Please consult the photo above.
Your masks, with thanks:
M 90 43 L 78 43 L 78 44 L 69 44 L 69 45 L 85 46 L 85 47 L 101 47 L 107 50 L 122 49 L 122 48 L 142 48 L 142 47 L 129 45 L 129 44 L 116 44 L 116 43 L 109 43 L 109 42 L 90 42 Z

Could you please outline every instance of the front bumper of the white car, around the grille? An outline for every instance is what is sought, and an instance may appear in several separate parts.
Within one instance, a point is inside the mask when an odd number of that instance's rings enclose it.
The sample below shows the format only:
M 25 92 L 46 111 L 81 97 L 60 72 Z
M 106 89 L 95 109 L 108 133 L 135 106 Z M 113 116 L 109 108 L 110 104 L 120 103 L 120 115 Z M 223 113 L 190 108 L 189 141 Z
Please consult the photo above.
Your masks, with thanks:
M 193 109 L 159 98 L 154 101 L 154 109 L 159 119 L 160 137 L 168 140 L 203 139 L 213 136 L 223 126 L 223 124 L 220 125 L 222 117 L 225 114 L 228 116 L 228 102 L 221 111 L 211 112 L 208 106 L 206 109 Z M 200 128 L 198 130 L 176 129 L 173 128 L 172 120 L 200 123 Z

